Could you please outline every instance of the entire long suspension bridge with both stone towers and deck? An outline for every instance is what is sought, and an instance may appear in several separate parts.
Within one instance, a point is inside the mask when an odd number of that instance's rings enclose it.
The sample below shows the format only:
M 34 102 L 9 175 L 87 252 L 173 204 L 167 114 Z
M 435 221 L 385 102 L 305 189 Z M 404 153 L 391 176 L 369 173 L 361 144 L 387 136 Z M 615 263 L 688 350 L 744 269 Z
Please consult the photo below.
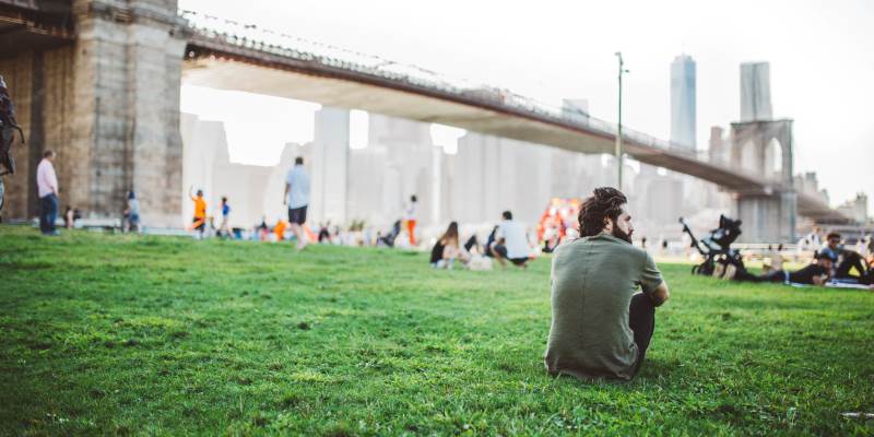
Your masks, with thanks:
M 203 85 L 363 109 L 560 147 L 613 153 L 615 125 L 554 108 L 508 90 L 456 81 L 411 66 L 257 26 L 177 11 L 157 0 L 0 0 L 0 73 L 11 83 L 29 132 L 28 175 L 51 146 L 73 163 L 59 168 L 68 196 L 110 214 L 127 187 L 151 191 L 145 211 L 178 215 L 179 85 Z M 22 85 L 24 83 L 24 85 Z M 47 98 L 47 96 L 50 97 Z M 49 102 L 47 102 L 49 101 Z M 25 114 L 21 116 L 21 108 Z M 792 187 L 791 120 L 733 123 L 724 162 L 624 128 L 625 152 L 641 163 L 711 181 L 735 194 L 737 212 L 761 239 L 789 240 L 795 215 L 846 221 Z M 781 170 L 766 170 L 771 139 Z M 743 168 L 740 156 L 756 156 Z M 67 161 L 66 160 L 66 161 Z M 16 175 L 10 191 L 28 186 Z M 27 179 L 33 180 L 33 179 Z M 27 196 L 12 198 L 20 215 Z M 163 192 L 173 194 L 162 194 Z M 158 220 L 160 217 L 152 217 Z

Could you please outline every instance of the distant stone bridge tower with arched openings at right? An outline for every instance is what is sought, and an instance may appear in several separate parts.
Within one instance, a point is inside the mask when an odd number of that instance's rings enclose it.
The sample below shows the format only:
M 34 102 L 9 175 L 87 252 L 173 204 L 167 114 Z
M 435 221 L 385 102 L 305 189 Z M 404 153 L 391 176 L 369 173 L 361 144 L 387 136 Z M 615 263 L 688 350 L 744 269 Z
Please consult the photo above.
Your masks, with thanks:
M 773 187 L 735 193 L 743 241 L 790 243 L 795 239 L 798 204 L 792 178 L 792 120 L 755 120 L 731 125 L 729 164 Z

